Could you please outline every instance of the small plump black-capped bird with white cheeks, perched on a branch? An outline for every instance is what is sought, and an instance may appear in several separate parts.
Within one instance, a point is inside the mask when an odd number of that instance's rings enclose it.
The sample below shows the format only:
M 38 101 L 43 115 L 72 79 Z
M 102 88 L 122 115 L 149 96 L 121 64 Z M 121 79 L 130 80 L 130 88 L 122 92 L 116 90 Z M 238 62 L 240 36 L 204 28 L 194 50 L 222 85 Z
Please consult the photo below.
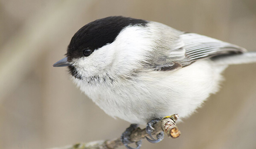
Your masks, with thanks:
M 121 140 L 160 118 L 178 113 L 188 117 L 219 89 L 221 72 L 231 64 L 256 62 L 256 52 L 200 34 L 182 32 L 162 23 L 112 16 L 95 20 L 72 37 L 65 58 L 72 79 L 93 102 L 112 117 L 132 125 Z M 137 148 L 141 141 L 137 142 Z

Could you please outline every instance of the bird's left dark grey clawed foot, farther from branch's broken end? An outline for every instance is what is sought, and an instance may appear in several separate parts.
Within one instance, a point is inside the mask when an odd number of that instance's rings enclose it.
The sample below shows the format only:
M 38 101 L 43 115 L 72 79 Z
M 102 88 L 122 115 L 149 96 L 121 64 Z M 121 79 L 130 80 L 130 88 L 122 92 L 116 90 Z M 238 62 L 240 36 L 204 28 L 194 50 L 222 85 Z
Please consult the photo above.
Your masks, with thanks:
M 122 140 L 122 143 L 125 145 L 125 147 L 127 149 L 134 149 L 132 148 L 131 146 L 128 146 L 128 144 L 130 143 L 134 143 L 133 141 L 130 140 L 130 135 L 131 133 L 138 127 L 138 124 L 131 124 L 130 127 L 128 127 L 125 132 L 122 133 L 121 135 L 121 140 Z M 140 149 L 140 146 L 142 144 L 142 141 L 137 141 L 135 142 L 137 147 L 135 149 Z

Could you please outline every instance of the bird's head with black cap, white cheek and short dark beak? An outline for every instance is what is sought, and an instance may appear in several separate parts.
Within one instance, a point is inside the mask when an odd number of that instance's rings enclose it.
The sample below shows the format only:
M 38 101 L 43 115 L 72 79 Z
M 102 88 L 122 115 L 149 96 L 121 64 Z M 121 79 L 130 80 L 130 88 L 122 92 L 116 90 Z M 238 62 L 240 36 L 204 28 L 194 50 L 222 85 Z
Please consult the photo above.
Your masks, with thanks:
M 147 23 L 121 16 L 88 23 L 72 37 L 67 57 L 53 66 L 68 66 L 73 77 L 80 80 L 132 70 L 145 59 L 143 49 L 149 46 Z

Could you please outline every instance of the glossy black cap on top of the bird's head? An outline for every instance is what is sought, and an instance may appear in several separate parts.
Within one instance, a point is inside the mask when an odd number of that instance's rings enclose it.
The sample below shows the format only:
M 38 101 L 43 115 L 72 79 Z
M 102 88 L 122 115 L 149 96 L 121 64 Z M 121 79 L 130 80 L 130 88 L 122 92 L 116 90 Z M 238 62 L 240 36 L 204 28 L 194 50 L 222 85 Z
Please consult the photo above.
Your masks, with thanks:
M 79 29 L 72 37 L 67 49 L 68 60 L 83 57 L 84 49 L 96 49 L 112 43 L 126 26 L 145 26 L 145 20 L 131 17 L 112 16 L 95 20 Z

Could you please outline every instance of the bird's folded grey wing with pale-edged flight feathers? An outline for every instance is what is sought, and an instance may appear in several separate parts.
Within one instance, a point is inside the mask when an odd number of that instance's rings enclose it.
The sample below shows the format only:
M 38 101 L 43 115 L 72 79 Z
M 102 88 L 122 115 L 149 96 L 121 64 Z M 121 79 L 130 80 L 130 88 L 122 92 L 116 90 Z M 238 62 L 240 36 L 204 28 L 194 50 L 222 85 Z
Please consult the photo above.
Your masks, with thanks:
M 169 64 L 165 62 L 162 66 L 157 66 L 157 70 L 175 71 L 197 60 L 246 51 L 239 46 L 195 33 L 180 34 L 176 41 L 181 42 L 177 44 L 180 47 L 169 49 Z

